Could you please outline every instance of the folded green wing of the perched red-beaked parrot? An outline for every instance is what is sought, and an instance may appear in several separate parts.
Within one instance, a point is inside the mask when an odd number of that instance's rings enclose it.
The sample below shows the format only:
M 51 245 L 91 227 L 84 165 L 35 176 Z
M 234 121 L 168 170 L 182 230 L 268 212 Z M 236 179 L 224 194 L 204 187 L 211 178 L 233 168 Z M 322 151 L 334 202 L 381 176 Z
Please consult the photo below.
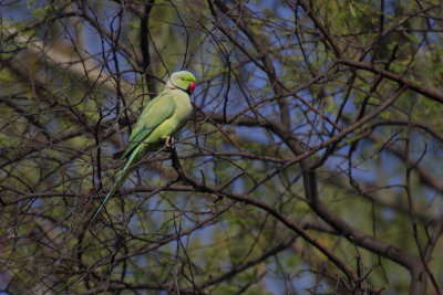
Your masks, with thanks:
M 130 145 L 122 156 L 122 159 L 127 157 L 164 120 L 169 118 L 175 110 L 175 103 L 172 94 L 164 92 L 155 97 L 143 109 L 134 130 L 130 136 Z

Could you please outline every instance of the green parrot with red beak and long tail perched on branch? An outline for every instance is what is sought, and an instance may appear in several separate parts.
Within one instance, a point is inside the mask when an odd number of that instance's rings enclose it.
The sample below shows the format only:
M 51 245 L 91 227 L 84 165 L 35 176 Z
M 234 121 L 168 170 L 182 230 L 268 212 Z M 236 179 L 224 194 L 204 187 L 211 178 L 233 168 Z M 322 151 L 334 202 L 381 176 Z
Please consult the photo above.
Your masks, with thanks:
M 105 202 L 130 176 L 134 164 L 163 145 L 167 147 L 174 145 L 174 136 L 179 133 L 192 112 L 189 95 L 193 94 L 196 82 L 194 75 L 187 71 L 173 73 L 163 92 L 143 109 L 130 136 L 130 145 L 121 158 L 127 158 L 127 162 L 92 218 L 90 225 Z

